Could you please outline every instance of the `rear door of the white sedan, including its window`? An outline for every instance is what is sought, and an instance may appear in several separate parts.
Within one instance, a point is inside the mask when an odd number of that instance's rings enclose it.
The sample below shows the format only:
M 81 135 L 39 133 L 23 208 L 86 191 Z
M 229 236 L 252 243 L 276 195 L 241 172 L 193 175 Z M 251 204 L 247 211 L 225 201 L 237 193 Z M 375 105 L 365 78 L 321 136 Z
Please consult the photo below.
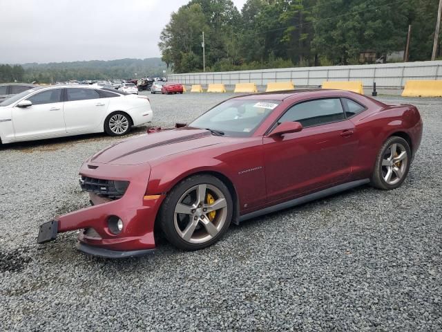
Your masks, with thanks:
M 64 119 L 68 133 L 97 131 L 106 115 L 109 98 L 100 98 L 95 89 L 66 88 Z

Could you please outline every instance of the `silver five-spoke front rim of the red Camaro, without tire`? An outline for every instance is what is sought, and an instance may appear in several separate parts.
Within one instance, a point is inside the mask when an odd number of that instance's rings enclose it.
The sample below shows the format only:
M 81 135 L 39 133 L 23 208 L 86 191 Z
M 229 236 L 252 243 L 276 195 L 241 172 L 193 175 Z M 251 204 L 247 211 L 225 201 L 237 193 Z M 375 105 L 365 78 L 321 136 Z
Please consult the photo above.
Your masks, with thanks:
M 207 203 L 208 197 L 214 199 L 213 203 Z M 213 239 L 226 223 L 227 200 L 213 185 L 194 185 L 178 200 L 173 219 L 175 230 L 184 241 L 205 243 Z

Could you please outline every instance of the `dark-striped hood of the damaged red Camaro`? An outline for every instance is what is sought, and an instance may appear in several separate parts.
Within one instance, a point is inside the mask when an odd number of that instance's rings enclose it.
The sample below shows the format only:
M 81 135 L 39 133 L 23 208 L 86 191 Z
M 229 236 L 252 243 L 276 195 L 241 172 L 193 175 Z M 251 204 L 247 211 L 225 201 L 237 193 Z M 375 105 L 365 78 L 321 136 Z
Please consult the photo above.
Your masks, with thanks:
M 149 161 L 225 142 L 205 129 L 184 127 L 128 138 L 92 156 L 90 163 L 138 165 Z

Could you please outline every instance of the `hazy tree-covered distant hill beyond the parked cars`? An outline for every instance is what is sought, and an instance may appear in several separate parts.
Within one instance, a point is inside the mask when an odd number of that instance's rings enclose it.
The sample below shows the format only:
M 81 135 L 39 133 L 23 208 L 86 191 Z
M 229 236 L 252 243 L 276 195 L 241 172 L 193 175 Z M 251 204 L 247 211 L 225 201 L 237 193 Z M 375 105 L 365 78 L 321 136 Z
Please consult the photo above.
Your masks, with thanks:
M 116 78 L 162 77 L 166 64 L 159 57 L 146 59 L 92 60 L 76 62 L 28 63 L 24 80 L 32 82 L 56 82 L 66 80 L 108 80 Z

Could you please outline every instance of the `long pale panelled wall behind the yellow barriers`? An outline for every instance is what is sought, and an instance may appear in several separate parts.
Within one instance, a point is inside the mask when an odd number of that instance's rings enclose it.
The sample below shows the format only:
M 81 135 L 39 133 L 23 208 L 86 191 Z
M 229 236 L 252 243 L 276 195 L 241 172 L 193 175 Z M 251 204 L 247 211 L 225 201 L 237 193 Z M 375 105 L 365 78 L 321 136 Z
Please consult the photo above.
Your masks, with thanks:
M 442 67 L 442 61 L 187 73 L 171 74 L 168 78 L 182 84 L 224 83 L 226 86 L 244 82 L 266 86 L 267 82 L 292 81 L 296 87 L 320 86 L 327 80 L 358 80 L 367 88 L 376 82 L 381 89 L 401 89 L 407 80 L 441 80 L 442 68 L 439 67 Z

